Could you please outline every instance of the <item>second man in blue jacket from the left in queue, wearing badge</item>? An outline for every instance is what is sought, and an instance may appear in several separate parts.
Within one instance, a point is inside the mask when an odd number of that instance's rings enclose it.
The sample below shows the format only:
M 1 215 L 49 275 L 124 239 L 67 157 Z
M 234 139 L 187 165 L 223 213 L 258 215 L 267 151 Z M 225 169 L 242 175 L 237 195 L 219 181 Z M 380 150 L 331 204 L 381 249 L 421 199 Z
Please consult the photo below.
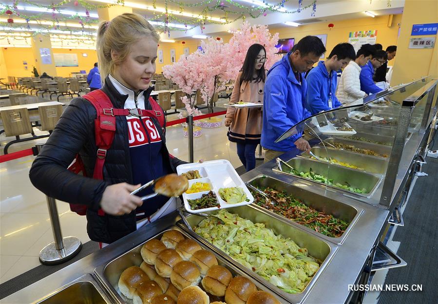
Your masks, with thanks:
M 307 81 L 305 108 L 312 115 L 342 105 L 336 97 L 337 71 L 354 59 L 356 59 L 354 47 L 350 43 L 339 43 L 333 48 L 327 60 L 318 62 L 318 65 L 309 72 L 305 78 Z

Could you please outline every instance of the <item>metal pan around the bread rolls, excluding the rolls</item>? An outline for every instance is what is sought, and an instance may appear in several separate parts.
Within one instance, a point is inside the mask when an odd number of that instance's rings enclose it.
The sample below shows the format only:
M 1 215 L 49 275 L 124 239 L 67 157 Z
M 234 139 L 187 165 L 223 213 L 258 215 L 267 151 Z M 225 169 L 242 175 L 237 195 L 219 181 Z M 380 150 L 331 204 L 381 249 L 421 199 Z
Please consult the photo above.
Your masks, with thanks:
M 181 229 L 181 228 L 176 227 L 176 226 L 171 226 L 171 227 L 161 231 L 160 233 L 153 236 L 152 238 L 145 240 L 140 245 L 138 245 L 138 246 L 130 249 L 129 251 L 125 252 L 124 254 L 114 258 L 109 263 L 107 263 L 105 265 L 98 266 L 95 268 L 96 277 L 99 279 L 99 281 L 102 283 L 102 285 L 104 285 L 105 288 L 109 291 L 109 293 L 111 294 L 111 296 L 113 297 L 113 299 L 116 303 L 118 303 L 118 304 L 124 304 L 124 303 L 132 304 L 133 303 L 133 300 L 127 299 L 125 296 L 123 296 L 119 293 L 118 280 L 119 280 L 122 272 L 130 266 L 140 266 L 140 264 L 143 262 L 143 258 L 141 257 L 141 253 L 140 253 L 141 247 L 143 247 L 143 244 L 151 239 L 161 239 L 161 236 L 163 235 L 163 233 L 168 231 L 168 230 L 171 230 L 171 229 L 178 230 L 186 238 L 190 238 L 190 239 L 196 241 L 197 243 L 199 243 L 199 245 L 203 249 L 210 250 L 216 256 L 218 264 L 227 267 L 229 269 L 229 271 L 231 271 L 231 274 L 233 275 L 233 277 L 235 277 L 235 276 L 247 277 L 257 286 L 257 289 L 271 292 L 272 295 L 277 297 L 277 299 L 281 303 L 283 303 L 282 299 L 278 295 L 276 295 L 275 292 L 273 292 L 272 290 L 267 288 L 265 285 L 260 284 L 257 280 L 252 278 L 246 272 L 242 271 L 238 267 L 229 263 L 229 261 L 226 258 L 220 256 L 219 254 L 214 252 L 214 250 L 211 250 L 208 246 L 206 246 L 205 244 L 203 244 L 202 242 L 200 242 L 199 240 L 194 238 L 190 233 L 187 233 L 185 229 Z

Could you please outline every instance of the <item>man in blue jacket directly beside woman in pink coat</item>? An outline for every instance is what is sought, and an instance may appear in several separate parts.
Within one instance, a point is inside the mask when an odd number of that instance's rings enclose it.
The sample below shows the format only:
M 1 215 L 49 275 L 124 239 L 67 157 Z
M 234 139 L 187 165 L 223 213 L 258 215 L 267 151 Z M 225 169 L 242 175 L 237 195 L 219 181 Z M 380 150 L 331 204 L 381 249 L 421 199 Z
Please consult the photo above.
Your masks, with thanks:
M 274 143 L 283 133 L 311 114 L 305 109 L 307 83 L 305 71 L 310 69 L 325 52 L 320 38 L 306 36 L 291 52 L 274 63 L 265 82 L 263 102 L 263 127 L 261 144 L 265 162 L 292 148 L 309 151 L 309 143 L 302 133 Z

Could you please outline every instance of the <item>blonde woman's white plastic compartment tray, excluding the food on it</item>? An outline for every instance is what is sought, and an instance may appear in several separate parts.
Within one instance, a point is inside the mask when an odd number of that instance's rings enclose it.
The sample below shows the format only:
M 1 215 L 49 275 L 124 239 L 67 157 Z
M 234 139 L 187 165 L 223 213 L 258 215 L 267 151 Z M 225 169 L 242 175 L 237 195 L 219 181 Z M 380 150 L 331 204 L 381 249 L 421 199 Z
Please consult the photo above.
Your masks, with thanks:
M 233 166 L 231 166 L 231 163 L 226 159 L 211 160 L 203 163 L 183 164 L 176 167 L 176 172 L 178 174 L 182 174 L 190 170 L 198 170 L 199 174 L 201 175 L 201 178 L 189 180 L 189 188 L 191 187 L 192 184 L 196 182 L 209 183 L 211 191 L 213 191 L 214 194 L 216 194 L 218 203 L 220 204 L 220 209 L 244 206 L 251 204 L 254 201 L 254 197 L 252 196 L 251 192 L 249 192 L 247 186 L 245 186 L 245 183 L 242 181 L 239 174 L 237 174 L 236 170 L 234 170 Z M 237 204 L 228 204 L 220 197 L 219 189 L 229 188 L 229 187 L 242 188 L 245 194 L 247 195 L 249 201 L 248 202 L 243 201 Z M 202 194 L 208 192 L 209 191 L 196 192 L 190 194 L 183 193 L 184 206 L 186 210 L 193 213 L 217 210 L 218 209 L 217 207 L 197 209 L 197 210 L 190 209 L 190 204 L 187 201 L 187 199 L 196 199 L 201 197 Z

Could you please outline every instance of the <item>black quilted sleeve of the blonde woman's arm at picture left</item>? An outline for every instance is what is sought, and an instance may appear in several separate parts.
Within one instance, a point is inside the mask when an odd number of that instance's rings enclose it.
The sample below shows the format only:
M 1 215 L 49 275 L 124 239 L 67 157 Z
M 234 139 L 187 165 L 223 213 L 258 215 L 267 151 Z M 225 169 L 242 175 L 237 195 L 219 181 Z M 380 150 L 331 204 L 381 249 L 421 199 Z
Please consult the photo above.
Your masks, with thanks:
M 90 117 L 95 115 L 87 100 L 73 99 L 32 164 L 29 177 L 38 190 L 50 197 L 97 210 L 107 184 L 67 170 L 87 141 L 94 140 L 94 118 Z

